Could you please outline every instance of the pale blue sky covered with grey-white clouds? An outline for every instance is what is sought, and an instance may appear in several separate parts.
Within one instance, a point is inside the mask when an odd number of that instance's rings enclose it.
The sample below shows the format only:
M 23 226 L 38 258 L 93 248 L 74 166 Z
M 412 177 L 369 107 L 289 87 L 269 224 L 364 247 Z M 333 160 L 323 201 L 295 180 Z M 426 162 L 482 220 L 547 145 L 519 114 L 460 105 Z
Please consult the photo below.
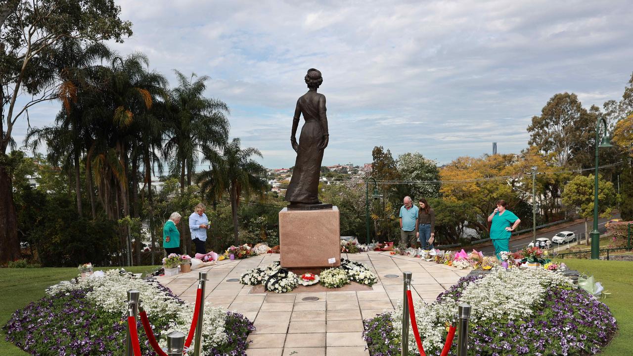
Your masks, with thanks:
M 439 163 L 489 153 L 492 142 L 518 152 L 553 94 L 601 106 L 633 72 L 625 0 L 116 2 L 134 36 L 113 48 L 146 53 L 172 84 L 174 68 L 209 75 L 207 95 L 231 108 L 231 136 L 259 148 L 267 167 L 294 165 L 292 114 L 308 68 L 324 78 L 326 165 L 371 162 L 377 145 Z M 50 124 L 56 110 L 31 110 L 31 124 Z

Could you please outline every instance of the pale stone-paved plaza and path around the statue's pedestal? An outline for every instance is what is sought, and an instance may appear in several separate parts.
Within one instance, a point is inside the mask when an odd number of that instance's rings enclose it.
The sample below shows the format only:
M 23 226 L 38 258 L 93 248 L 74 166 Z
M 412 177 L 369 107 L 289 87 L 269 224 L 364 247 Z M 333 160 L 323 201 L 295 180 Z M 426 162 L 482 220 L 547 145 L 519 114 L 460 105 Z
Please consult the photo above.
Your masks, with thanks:
M 370 291 L 332 291 L 304 293 L 250 293 L 239 279 L 246 270 L 279 260 L 268 253 L 244 260 L 223 260 L 208 272 L 205 305 L 240 312 L 254 321 L 256 331 L 249 336 L 249 356 L 368 356 L 361 334 L 363 319 L 385 310 L 393 310 L 403 298 L 402 272 L 413 273 L 413 299 L 432 302 L 468 270 L 426 262 L 420 258 L 389 255 L 389 252 L 341 254 L 341 258 L 367 264 L 379 277 Z M 199 270 L 178 276 L 158 277 L 187 302 L 196 300 Z M 390 278 L 385 275 L 396 274 Z M 308 296 L 318 300 L 305 302 Z

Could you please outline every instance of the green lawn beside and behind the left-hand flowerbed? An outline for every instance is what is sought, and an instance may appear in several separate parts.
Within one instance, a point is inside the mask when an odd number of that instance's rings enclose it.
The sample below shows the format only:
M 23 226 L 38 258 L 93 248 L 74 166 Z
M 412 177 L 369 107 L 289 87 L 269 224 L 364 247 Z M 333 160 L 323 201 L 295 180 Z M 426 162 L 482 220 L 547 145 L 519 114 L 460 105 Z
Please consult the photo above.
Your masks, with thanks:
M 115 267 L 113 267 L 115 268 Z M 152 272 L 158 268 L 152 266 L 125 267 L 134 273 Z M 105 270 L 105 269 L 104 269 Z M 77 276 L 77 268 L 40 268 L 40 269 L 0 269 L 0 326 L 4 326 L 15 310 L 23 308 L 29 302 L 44 296 L 44 289 L 60 281 Z M 13 344 L 4 341 L 0 331 L 0 355 L 27 356 Z

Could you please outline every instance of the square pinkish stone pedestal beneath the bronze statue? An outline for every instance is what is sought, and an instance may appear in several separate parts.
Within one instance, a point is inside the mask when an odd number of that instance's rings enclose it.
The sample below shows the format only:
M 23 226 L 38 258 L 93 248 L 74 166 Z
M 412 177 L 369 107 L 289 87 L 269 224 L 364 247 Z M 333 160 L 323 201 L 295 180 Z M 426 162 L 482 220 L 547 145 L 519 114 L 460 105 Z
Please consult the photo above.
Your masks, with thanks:
M 341 265 L 339 208 L 279 212 L 281 266 L 289 269 Z M 329 259 L 334 258 L 334 263 Z

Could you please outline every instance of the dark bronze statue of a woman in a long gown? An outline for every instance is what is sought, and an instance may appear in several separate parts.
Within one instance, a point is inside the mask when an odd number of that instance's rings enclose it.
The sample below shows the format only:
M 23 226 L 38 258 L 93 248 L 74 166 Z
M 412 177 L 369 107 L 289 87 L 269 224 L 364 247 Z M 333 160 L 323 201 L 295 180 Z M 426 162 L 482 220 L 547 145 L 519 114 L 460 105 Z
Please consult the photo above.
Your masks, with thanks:
M 323 149 L 327 147 L 329 134 L 327 131 L 327 116 L 325 115 L 325 95 L 316 92 L 323 83 L 321 72 L 315 68 L 308 69 L 304 78 L 308 84 L 308 92 L 297 100 L 292 118 L 292 133 L 290 142 L 297 152 L 297 160 L 292 170 L 292 179 L 285 200 L 290 202 L 289 209 L 323 209 L 332 204 L 318 201 L 318 182 L 323 160 Z M 305 124 L 301 128 L 299 143 L 296 134 L 299 117 L 303 114 Z

